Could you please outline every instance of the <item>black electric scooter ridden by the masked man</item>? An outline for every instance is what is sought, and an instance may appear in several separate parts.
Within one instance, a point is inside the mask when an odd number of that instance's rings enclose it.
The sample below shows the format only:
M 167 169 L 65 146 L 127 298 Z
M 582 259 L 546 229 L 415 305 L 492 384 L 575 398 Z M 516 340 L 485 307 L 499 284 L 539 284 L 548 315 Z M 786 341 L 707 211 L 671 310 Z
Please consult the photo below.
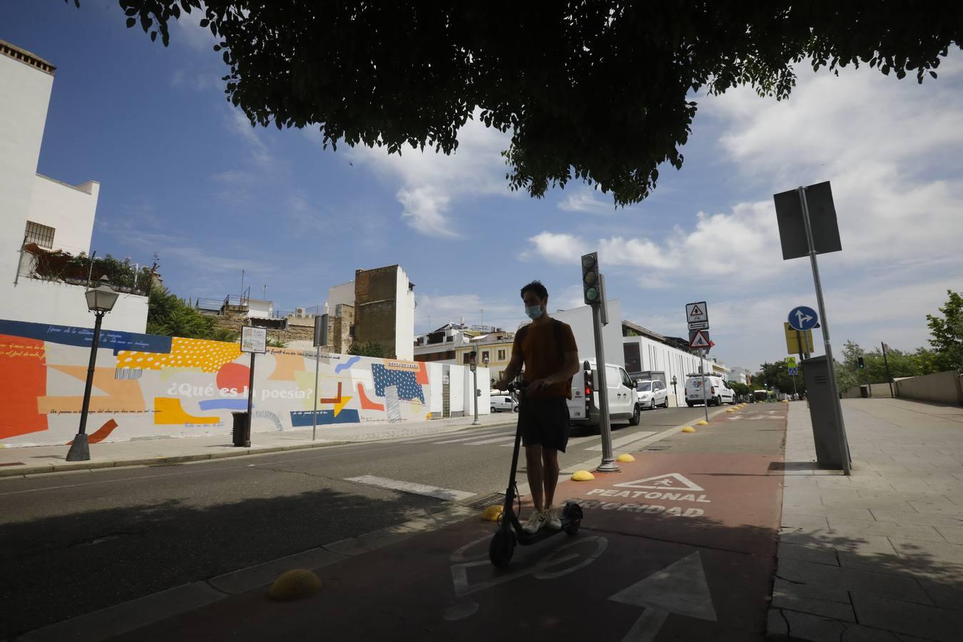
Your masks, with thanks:
M 525 383 L 508 384 L 508 393 L 515 398 L 519 404 L 518 417 L 522 417 L 522 404 L 525 398 Z M 518 497 L 518 484 L 515 482 L 515 473 L 518 471 L 518 452 L 522 445 L 522 429 L 519 421 L 515 426 L 515 448 L 511 452 L 511 471 L 508 474 L 508 488 L 505 491 L 505 506 L 502 517 L 499 520 L 498 530 L 491 537 L 491 544 L 488 545 L 488 559 L 496 567 L 508 566 L 511 555 L 515 552 L 515 545 L 530 546 L 548 539 L 556 533 L 565 532 L 568 535 L 575 535 L 582 526 L 582 506 L 574 501 L 565 502 L 561 510 L 561 528 L 553 530 L 542 526 L 537 532 L 528 533 L 522 530 L 522 525 L 518 518 L 522 512 L 522 501 Z M 515 501 L 518 501 L 518 513 L 515 513 Z

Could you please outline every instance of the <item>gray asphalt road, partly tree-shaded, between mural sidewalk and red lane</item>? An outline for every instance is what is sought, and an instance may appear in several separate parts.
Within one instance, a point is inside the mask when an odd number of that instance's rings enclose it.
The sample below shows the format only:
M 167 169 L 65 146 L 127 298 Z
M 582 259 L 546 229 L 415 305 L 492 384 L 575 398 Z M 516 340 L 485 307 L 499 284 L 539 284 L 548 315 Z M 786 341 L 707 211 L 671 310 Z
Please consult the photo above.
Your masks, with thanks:
M 642 413 L 615 451 L 696 421 L 702 408 Z M 0 638 L 190 581 L 391 526 L 450 505 L 347 480 L 374 475 L 457 491 L 504 491 L 513 427 L 174 466 L 0 480 Z M 574 430 L 567 466 L 601 457 Z M 524 481 L 524 474 L 519 475 Z

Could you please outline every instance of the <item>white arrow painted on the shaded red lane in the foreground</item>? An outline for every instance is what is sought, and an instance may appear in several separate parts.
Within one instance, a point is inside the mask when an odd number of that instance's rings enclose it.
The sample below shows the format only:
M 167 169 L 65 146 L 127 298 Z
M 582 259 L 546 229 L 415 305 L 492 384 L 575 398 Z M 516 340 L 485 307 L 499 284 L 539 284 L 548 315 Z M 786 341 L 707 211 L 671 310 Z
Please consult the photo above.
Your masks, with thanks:
M 716 608 L 698 551 L 622 589 L 609 599 L 645 608 L 622 642 L 655 640 L 669 613 L 716 622 Z

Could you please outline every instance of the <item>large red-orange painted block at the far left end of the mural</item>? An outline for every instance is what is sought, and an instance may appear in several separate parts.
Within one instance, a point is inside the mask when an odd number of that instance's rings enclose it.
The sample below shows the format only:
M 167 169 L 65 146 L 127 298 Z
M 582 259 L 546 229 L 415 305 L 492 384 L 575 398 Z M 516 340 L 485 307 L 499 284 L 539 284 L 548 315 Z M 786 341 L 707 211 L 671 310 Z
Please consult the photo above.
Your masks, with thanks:
M 37 400 L 47 392 L 46 348 L 39 339 L 0 334 L 0 439 L 47 429 Z

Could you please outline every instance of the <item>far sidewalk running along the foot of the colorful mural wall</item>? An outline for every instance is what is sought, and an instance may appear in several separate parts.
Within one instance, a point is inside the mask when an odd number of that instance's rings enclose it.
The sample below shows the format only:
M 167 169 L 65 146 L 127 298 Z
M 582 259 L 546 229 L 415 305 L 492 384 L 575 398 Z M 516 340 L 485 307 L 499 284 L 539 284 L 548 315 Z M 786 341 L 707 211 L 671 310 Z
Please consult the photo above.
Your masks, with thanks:
M 514 413 L 481 415 L 479 427 L 514 425 Z M 473 417 L 453 417 L 429 422 L 399 424 L 337 424 L 318 426 L 317 440 L 311 440 L 311 428 L 295 428 L 276 432 L 253 432 L 250 448 L 231 445 L 231 435 L 199 437 L 134 439 L 126 442 L 91 444 L 90 461 L 65 461 L 69 447 L 30 446 L 0 448 L 0 477 L 40 475 L 62 471 L 93 470 L 120 466 L 156 466 L 204 459 L 265 454 L 281 450 L 298 450 L 342 446 L 385 439 L 415 437 L 453 432 L 471 427 Z

